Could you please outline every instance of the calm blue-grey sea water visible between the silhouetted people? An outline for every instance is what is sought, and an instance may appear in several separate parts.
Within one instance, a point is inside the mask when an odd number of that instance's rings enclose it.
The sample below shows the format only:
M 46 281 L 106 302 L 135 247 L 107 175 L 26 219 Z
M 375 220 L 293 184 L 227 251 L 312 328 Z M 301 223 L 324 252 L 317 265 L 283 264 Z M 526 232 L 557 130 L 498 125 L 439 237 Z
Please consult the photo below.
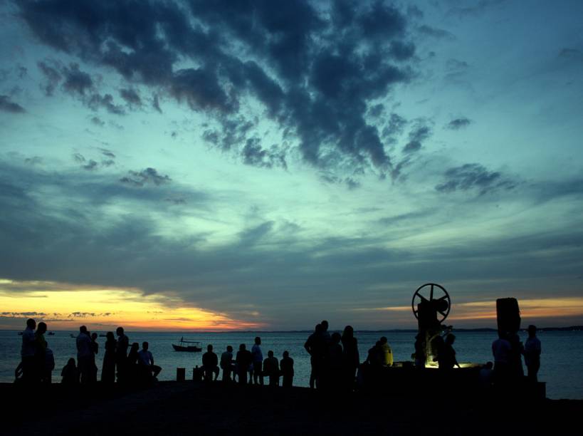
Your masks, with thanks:
M 53 381 L 61 380 L 61 368 L 68 358 L 75 357 L 75 336 L 78 332 L 58 331 L 55 336 L 46 336 L 48 346 L 55 354 L 55 371 Z M 100 332 L 103 333 L 103 332 Z M 459 362 L 483 363 L 492 360 L 490 345 L 495 339 L 495 333 L 483 332 L 454 332 L 456 333 L 456 353 Z M 182 333 L 144 333 L 128 332 L 130 343 L 149 342 L 149 349 L 154 355 L 157 365 L 162 366 L 159 380 L 174 380 L 176 368 L 187 368 L 187 376 L 195 365 L 201 365 L 202 353 L 177 353 L 172 349 L 172 343 L 177 343 Z M 235 350 L 241 343 L 246 343 L 250 349 L 253 338 L 261 336 L 264 357 L 267 351 L 273 350 L 277 358 L 281 358 L 283 351 L 288 350 L 295 361 L 294 385 L 308 386 L 310 378 L 310 360 L 308 353 L 303 349 L 308 333 L 191 333 L 184 338 L 201 341 L 206 351 L 206 345 L 212 343 L 214 351 L 219 355 L 226 346 L 231 345 Z M 359 343 L 360 359 L 366 358 L 367 350 L 374 345 L 380 336 L 387 336 L 392 346 L 395 360 L 411 360 L 413 353 L 414 333 L 356 333 Z M 552 331 L 540 332 L 542 342 L 541 368 L 539 380 L 547 382 L 547 396 L 549 398 L 583 399 L 583 373 L 580 370 L 583 361 L 583 331 Z M 526 334 L 522 333 L 522 341 Z M 98 338 L 100 353 L 98 354 L 98 368 L 101 368 L 103 359 L 103 343 L 105 338 Z M 0 331 L 0 382 L 14 380 L 14 368 L 20 361 L 21 336 L 16 331 Z

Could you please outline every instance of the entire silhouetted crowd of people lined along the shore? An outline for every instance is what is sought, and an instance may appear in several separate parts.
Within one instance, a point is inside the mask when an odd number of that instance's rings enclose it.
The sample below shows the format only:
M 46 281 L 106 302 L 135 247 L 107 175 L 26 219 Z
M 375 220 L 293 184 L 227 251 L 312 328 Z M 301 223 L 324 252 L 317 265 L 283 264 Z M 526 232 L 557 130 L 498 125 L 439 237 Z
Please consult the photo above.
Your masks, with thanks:
M 384 368 L 394 364 L 392 349 L 386 337 L 379 338 L 367 351 L 367 358 L 361 362 L 358 341 L 354 337 L 352 326 L 346 326 L 342 334 L 330 334 L 328 327 L 327 321 L 317 324 L 304 344 L 310 355 L 310 388 L 352 391 L 357 385 L 376 383 L 386 373 Z M 21 363 L 16 368 L 16 380 L 26 383 L 51 383 L 55 359 L 45 339 L 46 331 L 46 323 L 40 322 L 37 326 L 33 319 L 26 322 L 26 329 L 21 333 Z M 494 363 L 488 362 L 480 368 L 480 383 L 483 386 L 511 385 L 516 380 L 521 380 L 524 378 L 522 357 L 527 366 L 527 379 L 536 382 L 541 354 L 536 332 L 535 326 L 528 327 L 528 338 L 524 345 L 518 334 L 500 332 L 498 339 L 492 344 Z M 117 338 L 111 331 L 106 334 L 101 382 L 112 384 L 117 380 L 117 383 L 146 385 L 157 380 L 162 368 L 154 365 L 149 344 L 143 342 L 142 349 L 138 343 L 130 346 L 130 340 L 122 327 L 118 327 L 115 334 Z M 80 326 L 79 334 L 75 338 L 77 360 L 70 358 L 61 370 L 63 384 L 90 385 L 97 382 L 97 338 L 97 333 L 90 333 L 85 326 Z M 431 350 L 431 360 L 437 363 L 442 375 L 456 366 L 459 368 L 456 351 L 453 349 L 455 339 L 453 334 L 446 333 L 445 336 L 436 334 L 426 340 L 419 333 L 414 345 L 415 352 L 411 355 L 414 364 L 409 362 L 401 365 L 423 370 L 428 365 L 426 351 Z M 425 341 L 431 346 L 427 347 Z M 220 360 L 214 353 L 213 346 L 209 344 L 206 353 L 202 355 L 201 376 L 209 382 L 214 381 L 219 378 L 221 370 L 225 383 L 238 380 L 241 385 L 263 385 L 267 378 L 270 386 L 280 385 L 280 380 L 284 387 L 293 385 L 294 368 L 290 353 L 284 351 L 281 360 L 278 360 L 270 350 L 264 358 L 260 337 L 255 338 L 251 351 L 242 343 L 236 355 L 233 355 L 233 347 L 227 346 Z

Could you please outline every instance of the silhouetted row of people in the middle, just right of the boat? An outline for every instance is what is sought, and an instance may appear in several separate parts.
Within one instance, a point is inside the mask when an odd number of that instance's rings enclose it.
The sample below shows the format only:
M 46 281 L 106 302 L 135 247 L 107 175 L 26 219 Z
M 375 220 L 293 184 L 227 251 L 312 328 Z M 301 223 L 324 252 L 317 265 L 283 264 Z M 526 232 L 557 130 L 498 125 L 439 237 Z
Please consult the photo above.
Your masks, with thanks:
M 202 369 L 204 379 L 208 381 L 217 380 L 220 370 L 223 370 L 222 380 L 226 383 L 235 381 L 242 385 L 247 383 L 263 385 L 265 377 L 269 379 L 270 386 L 278 386 L 280 378 L 284 388 L 290 387 L 293 383 L 293 358 L 290 358 L 288 351 L 283 352 L 281 360 L 273 355 L 273 351 L 267 352 L 267 358 L 263 359 L 261 351 L 261 338 L 257 336 L 251 351 L 242 343 L 239 351 L 233 358 L 233 347 L 227 346 L 226 351 L 221 354 L 221 360 L 213 351 L 213 346 L 206 347 L 206 353 L 202 355 Z M 220 369 L 219 369 L 220 365 Z

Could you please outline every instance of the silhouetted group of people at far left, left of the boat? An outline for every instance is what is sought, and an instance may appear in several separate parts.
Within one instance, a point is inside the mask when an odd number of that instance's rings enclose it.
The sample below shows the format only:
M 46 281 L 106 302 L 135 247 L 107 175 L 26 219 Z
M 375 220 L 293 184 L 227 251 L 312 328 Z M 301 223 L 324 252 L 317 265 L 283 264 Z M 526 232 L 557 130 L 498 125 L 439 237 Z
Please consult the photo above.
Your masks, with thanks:
M 36 331 L 35 331 L 36 328 Z M 22 332 L 21 364 L 16 368 L 16 378 L 26 383 L 51 383 L 55 368 L 53 352 L 48 348 L 44 338 L 46 323 L 38 323 L 33 319 L 26 321 L 26 329 Z M 140 345 L 135 342 L 130 347 L 130 340 L 123 327 L 105 335 L 105 354 L 101 381 L 114 383 L 146 383 L 155 380 L 162 368 L 154 365 L 154 357 L 149 351 L 149 344 Z M 65 385 L 89 385 L 97 382 L 98 367 L 95 357 L 99 353 L 98 334 L 90 333 L 86 326 L 80 326 L 75 338 L 77 360 L 70 358 L 61 370 L 61 383 Z M 130 348 L 130 352 L 127 349 Z

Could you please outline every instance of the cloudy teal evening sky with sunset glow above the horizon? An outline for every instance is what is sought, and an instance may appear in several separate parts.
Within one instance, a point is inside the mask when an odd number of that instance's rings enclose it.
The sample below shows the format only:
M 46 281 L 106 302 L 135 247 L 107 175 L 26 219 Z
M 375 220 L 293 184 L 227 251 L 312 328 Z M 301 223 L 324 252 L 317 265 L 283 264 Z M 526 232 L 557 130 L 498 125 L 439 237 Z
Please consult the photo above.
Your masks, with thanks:
M 581 16 L 3 1 L 0 328 L 583 324 Z

